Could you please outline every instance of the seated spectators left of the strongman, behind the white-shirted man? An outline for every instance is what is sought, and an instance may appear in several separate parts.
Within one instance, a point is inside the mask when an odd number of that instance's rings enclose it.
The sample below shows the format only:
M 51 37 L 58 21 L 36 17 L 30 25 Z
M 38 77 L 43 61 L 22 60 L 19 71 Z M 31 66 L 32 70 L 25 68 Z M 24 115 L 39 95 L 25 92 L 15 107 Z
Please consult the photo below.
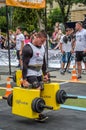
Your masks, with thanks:
M 22 33 L 25 37 L 24 44 L 27 44 L 28 42 L 31 42 L 31 39 L 36 34 L 36 31 L 34 30 L 30 34 L 27 31 L 23 31 Z M 10 49 L 15 49 L 16 47 L 16 43 L 14 42 L 16 41 L 16 36 L 17 36 L 16 31 L 9 30 L 9 48 Z M 0 30 L 0 48 L 8 49 L 8 34 L 3 34 L 1 30 Z

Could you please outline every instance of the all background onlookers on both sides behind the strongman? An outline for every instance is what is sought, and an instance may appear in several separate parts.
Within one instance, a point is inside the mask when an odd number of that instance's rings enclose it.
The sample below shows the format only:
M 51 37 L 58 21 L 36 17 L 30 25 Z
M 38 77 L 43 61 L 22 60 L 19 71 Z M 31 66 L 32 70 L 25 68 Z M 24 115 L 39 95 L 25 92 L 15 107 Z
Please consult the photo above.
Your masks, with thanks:
M 23 45 L 32 42 L 33 38 L 36 37 L 37 31 L 33 31 L 30 34 L 27 31 L 23 31 L 20 27 L 16 28 L 16 31 L 9 30 L 9 37 L 3 36 L 0 31 L 0 48 L 8 49 L 8 38 L 10 49 L 17 50 L 17 58 L 19 64 L 21 64 L 20 54 L 22 53 Z M 75 28 L 66 27 L 65 33 L 58 22 L 54 25 L 54 31 L 51 36 L 48 36 L 48 48 L 49 49 L 59 49 L 62 53 L 61 59 L 61 74 L 65 73 L 65 63 L 67 63 L 66 71 L 70 72 L 71 55 L 75 53 L 75 64 L 78 68 L 78 78 L 81 78 L 82 61 L 85 64 L 86 60 L 86 29 L 83 28 L 81 22 L 77 22 Z M 46 43 L 45 43 L 46 45 Z M 86 59 L 86 58 L 84 58 Z

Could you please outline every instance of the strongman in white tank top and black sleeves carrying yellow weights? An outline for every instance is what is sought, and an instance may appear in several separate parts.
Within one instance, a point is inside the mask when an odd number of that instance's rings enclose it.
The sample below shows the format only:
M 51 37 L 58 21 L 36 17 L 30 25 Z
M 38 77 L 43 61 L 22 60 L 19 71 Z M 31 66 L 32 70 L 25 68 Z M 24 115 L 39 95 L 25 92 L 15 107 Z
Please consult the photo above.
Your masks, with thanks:
M 36 37 L 24 46 L 23 54 L 23 86 L 28 87 L 29 84 L 36 82 L 36 86 L 32 86 L 34 89 L 41 89 L 40 82 L 44 79 L 48 80 L 46 73 L 46 62 L 45 62 L 45 48 L 44 42 L 47 39 L 45 31 L 37 33 Z M 42 114 L 41 114 L 42 115 Z M 46 118 L 44 115 L 41 118 Z

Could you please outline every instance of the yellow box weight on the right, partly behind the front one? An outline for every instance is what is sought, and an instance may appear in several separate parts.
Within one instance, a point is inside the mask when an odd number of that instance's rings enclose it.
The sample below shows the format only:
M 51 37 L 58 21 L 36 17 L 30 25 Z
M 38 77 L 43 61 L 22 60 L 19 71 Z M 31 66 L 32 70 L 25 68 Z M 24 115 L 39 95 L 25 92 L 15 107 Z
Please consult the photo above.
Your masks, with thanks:
M 60 89 L 58 83 L 44 84 L 44 90 L 41 91 L 41 97 L 44 99 L 46 105 L 52 106 L 53 110 L 60 109 L 60 104 L 56 102 L 56 92 Z

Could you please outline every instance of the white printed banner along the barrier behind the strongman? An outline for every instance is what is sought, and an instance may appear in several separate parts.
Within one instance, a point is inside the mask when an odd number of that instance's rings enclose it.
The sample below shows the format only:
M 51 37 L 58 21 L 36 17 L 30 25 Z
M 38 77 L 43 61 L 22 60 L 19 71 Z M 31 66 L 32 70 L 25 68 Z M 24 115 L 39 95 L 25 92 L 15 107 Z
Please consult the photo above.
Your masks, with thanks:
M 62 54 L 60 50 L 48 50 L 48 67 L 49 68 L 61 68 L 61 58 Z M 16 56 L 16 50 L 10 50 L 10 59 L 11 66 L 17 66 L 18 60 Z M 8 50 L 0 49 L 0 66 L 8 66 Z M 72 55 L 72 60 L 70 64 L 70 68 L 73 68 L 75 65 L 75 54 Z M 82 63 L 82 68 L 84 68 L 84 64 Z

